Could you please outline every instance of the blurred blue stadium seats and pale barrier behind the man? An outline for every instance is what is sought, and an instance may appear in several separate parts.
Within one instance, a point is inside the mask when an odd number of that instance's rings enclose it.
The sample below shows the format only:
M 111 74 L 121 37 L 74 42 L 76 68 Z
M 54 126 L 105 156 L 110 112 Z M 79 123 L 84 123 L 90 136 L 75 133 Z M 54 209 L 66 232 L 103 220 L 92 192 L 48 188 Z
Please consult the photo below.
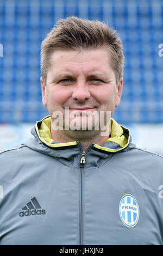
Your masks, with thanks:
M 137 146 L 163 155 L 162 0 L 1 0 L 0 150 L 30 137 L 35 121 L 48 114 L 41 102 L 41 41 L 72 15 L 117 29 L 126 61 L 113 117 L 129 127 Z

